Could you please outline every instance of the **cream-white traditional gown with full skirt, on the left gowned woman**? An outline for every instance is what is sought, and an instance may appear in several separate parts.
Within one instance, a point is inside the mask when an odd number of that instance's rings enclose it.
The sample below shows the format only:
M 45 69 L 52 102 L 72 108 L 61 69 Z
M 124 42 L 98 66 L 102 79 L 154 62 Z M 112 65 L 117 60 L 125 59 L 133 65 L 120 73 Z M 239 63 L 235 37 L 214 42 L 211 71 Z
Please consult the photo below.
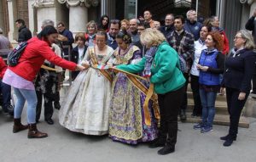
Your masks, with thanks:
M 108 46 L 107 46 L 108 47 Z M 100 55 L 95 47 L 88 47 L 84 59 L 90 64 L 107 64 L 113 59 L 113 49 Z M 87 135 L 108 134 L 108 114 L 111 100 L 112 77 L 106 70 L 89 68 L 80 72 L 61 104 L 61 126 Z

